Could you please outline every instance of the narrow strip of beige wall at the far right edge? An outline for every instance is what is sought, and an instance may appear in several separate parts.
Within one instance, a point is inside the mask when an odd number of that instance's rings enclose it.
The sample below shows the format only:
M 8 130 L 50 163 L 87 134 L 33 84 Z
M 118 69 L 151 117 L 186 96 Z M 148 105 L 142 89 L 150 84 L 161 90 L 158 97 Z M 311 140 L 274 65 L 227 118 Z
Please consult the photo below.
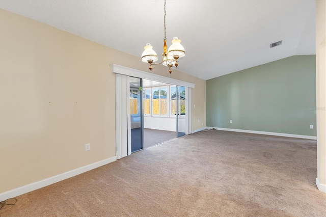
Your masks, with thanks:
M 326 1 L 316 1 L 317 173 L 326 185 Z

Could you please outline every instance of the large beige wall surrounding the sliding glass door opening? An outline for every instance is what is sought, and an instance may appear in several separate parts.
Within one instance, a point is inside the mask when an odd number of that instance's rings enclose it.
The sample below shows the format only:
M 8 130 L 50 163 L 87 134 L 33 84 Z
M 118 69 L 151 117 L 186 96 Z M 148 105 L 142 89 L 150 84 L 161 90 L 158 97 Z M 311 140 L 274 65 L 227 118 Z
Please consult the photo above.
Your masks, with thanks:
M 109 64 L 147 64 L 4 10 L 0 22 L 0 193 L 115 156 Z M 153 73 L 196 84 L 193 130 L 206 125 L 205 80 L 163 66 Z

